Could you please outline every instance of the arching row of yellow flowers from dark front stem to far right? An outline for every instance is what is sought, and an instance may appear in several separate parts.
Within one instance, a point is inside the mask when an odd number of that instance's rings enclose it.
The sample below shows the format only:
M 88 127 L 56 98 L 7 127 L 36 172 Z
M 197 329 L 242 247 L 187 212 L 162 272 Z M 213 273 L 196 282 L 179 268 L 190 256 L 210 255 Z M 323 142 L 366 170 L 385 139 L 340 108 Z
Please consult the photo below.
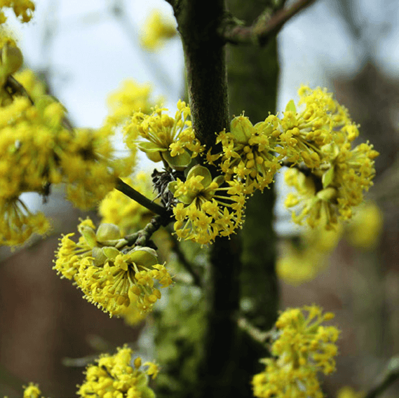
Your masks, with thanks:
M 222 152 L 208 151 L 207 160 L 219 161 L 226 179 L 241 182 L 247 195 L 268 187 L 282 163 L 290 165 L 285 181 L 297 193 L 290 193 L 285 204 L 299 205 L 292 218 L 332 228 L 338 217 L 351 218 L 352 207 L 363 201 L 378 152 L 368 142 L 352 147 L 358 126 L 331 93 L 304 86 L 299 95 L 304 109 L 297 111 L 291 100 L 281 119 L 269 115 L 252 125 L 245 116 L 234 118 L 230 132 L 217 134 Z

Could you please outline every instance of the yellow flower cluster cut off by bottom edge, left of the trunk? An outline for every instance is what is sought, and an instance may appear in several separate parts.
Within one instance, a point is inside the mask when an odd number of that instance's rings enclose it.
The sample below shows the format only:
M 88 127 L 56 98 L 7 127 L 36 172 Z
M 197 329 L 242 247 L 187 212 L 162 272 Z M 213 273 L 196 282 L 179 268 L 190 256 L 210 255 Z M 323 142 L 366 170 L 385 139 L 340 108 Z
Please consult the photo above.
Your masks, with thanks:
M 97 364 L 86 369 L 86 380 L 79 387 L 78 395 L 82 398 L 154 398 L 154 391 L 148 386 L 148 376 L 155 378 L 158 366 L 154 362 L 132 359 L 133 350 L 128 347 L 118 348 L 115 355 L 103 355 Z M 133 364 L 131 364 L 133 362 Z

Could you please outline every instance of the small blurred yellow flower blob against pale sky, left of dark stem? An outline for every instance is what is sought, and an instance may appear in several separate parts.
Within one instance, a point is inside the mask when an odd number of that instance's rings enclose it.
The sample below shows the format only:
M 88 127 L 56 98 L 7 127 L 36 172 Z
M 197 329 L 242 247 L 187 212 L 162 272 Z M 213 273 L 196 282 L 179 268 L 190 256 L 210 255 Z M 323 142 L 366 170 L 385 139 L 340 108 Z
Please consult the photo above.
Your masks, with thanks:
M 168 39 L 177 35 L 176 25 L 158 10 L 151 12 L 145 21 L 140 42 L 149 51 L 161 48 Z

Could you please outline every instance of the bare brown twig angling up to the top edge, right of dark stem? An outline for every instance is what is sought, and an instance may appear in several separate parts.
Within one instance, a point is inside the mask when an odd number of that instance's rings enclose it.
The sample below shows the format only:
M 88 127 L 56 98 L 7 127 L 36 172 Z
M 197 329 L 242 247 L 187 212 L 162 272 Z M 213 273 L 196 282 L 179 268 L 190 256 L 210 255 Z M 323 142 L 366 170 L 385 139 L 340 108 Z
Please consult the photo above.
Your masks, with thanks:
M 238 20 L 231 17 L 222 24 L 221 36 L 226 43 L 232 44 L 258 44 L 264 46 L 273 36 L 276 36 L 285 22 L 297 15 L 304 8 L 310 6 L 316 0 L 298 0 L 288 8 L 282 8 L 270 15 L 267 9 L 259 15 L 259 18 L 250 26 L 241 25 Z

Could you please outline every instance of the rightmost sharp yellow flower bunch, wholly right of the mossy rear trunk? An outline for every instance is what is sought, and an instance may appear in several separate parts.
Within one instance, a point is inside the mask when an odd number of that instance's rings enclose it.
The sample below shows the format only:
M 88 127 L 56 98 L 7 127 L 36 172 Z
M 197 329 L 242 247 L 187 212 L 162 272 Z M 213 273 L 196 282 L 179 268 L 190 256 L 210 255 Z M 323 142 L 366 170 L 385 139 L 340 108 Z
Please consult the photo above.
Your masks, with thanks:
M 372 186 L 378 152 L 368 142 L 352 147 L 358 127 L 330 93 L 302 87 L 299 95 L 305 109 L 298 113 L 293 102 L 286 109 L 280 135 L 286 145 L 280 153 L 293 166 L 303 162 L 309 172 L 287 172 L 285 181 L 297 193 L 285 204 L 301 208 L 292 213 L 298 224 L 306 220 L 312 227 L 321 223 L 332 228 L 338 217 L 350 219 L 352 207 L 363 201 L 363 191 Z

